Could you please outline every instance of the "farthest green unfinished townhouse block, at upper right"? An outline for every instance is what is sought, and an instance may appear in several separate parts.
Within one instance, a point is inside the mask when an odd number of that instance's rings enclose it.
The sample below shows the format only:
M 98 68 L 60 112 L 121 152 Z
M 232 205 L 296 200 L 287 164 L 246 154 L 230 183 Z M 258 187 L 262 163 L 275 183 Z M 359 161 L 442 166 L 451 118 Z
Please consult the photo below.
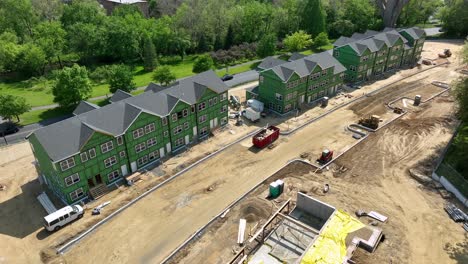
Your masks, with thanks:
M 425 31 L 416 27 L 367 30 L 337 39 L 333 56 L 346 67 L 346 82 L 360 82 L 414 65 L 421 58 L 424 40 Z

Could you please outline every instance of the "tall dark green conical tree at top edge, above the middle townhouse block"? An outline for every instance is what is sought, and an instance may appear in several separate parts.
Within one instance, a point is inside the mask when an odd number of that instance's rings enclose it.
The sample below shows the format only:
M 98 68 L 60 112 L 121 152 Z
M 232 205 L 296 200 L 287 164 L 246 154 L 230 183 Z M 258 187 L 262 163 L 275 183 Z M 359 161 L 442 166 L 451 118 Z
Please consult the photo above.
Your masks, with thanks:
M 306 0 L 301 12 L 302 29 L 312 35 L 324 32 L 325 16 L 321 0 Z

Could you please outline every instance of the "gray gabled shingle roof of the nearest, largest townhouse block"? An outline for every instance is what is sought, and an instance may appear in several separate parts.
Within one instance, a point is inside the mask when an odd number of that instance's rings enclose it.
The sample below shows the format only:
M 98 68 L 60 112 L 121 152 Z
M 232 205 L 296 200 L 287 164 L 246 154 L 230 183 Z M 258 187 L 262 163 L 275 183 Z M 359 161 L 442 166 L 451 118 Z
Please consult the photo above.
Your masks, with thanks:
M 180 80 L 167 89 L 149 91 L 114 102 L 104 107 L 91 107 L 83 102 L 81 112 L 74 117 L 33 132 L 52 161 L 60 161 L 78 152 L 94 132 L 118 136 L 123 134 L 141 112 L 160 117 L 170 114 L 179 100 L 195 102 L 206 89 L 223 93 L 228 86 L 213 72 L 207 71 Z M 180 96 L 180 99 L 176 96 Z M 80 104 L 81 105 L 81 104 Z M 78 109 L 78 108 L 77 108 Z M 80 110 L 78 109 L 78 110 Z M 78 113 L 78 112 L 77 112 Z

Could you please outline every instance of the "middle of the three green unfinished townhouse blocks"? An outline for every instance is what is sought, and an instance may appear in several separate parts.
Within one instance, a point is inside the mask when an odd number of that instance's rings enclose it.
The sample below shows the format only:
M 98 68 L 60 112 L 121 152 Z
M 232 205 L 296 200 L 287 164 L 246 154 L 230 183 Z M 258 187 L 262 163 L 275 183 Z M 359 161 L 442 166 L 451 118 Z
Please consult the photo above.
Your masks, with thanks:
M 259 85 L 247 91 L 247 99 L 255 98 L 279 114 L 333 96 L 343 84 L 346 70 L 328 52 L 290 62 L 270 58 L 259 67 L 263 69 Z

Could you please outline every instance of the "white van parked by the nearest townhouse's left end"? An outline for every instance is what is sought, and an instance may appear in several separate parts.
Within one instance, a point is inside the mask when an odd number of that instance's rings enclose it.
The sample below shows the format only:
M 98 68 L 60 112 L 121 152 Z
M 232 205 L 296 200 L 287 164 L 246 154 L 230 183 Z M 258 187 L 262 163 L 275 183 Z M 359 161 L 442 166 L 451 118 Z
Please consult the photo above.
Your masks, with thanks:
M 57 231 L 62 226 L 75 219 L 83 217 L 83 207 L 79 205 L 65 206 L 64 208 L 44 217 L 44 227 L 47 231 Z

